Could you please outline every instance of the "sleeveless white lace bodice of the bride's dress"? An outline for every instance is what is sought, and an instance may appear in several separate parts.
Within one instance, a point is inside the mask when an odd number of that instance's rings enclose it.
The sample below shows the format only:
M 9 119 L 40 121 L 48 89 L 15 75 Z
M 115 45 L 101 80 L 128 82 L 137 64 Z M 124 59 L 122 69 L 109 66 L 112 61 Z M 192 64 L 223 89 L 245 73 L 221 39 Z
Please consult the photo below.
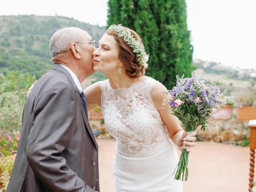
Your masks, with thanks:
M 150 156 L 170 144 L 165 125 L 150 97 L 156 83 L 147 77 L 129 88 L 112 89 L 100 82 L 101 106 L 108 132 L 116 138 L 116 152 L 125 156 Z

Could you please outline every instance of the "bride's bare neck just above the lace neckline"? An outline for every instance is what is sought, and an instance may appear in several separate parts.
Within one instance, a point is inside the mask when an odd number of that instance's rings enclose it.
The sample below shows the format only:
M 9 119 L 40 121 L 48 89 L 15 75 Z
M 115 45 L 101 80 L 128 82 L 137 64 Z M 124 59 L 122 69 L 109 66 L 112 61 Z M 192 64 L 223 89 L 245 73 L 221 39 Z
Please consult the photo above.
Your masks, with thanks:
M 107 76 L 110 86 L 113 89 L 119 89 L 119 88 L 129 88 L 133 83 L 138 82 L 141 80 L 141 78 L 144 78 L 143 76 L 139 78 L 132 78 L 128 76 L 127 74 L 115 74 L 115 75 L 108 75 Z

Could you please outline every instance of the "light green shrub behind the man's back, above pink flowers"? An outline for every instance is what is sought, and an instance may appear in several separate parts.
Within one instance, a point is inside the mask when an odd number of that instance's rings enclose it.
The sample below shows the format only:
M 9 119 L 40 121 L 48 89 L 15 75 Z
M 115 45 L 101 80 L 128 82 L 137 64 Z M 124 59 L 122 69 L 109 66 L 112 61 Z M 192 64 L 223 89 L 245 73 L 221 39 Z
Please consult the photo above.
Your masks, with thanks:
M 19 133 L 26 92 L 35 81 L 29 73 L 0 74 L 0 130 L 10 135 Z

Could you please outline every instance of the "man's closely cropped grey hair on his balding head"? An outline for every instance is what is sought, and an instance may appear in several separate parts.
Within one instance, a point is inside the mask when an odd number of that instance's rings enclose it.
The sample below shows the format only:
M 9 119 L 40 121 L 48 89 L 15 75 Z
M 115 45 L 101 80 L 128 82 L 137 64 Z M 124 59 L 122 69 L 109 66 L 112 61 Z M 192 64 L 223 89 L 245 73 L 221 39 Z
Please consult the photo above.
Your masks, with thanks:
M 53 57 L 70 49 L 72 42 L 81 41 L 86 32 L 77 27 L 67 27 L 56 31 L 50 39 L 49 50 Z

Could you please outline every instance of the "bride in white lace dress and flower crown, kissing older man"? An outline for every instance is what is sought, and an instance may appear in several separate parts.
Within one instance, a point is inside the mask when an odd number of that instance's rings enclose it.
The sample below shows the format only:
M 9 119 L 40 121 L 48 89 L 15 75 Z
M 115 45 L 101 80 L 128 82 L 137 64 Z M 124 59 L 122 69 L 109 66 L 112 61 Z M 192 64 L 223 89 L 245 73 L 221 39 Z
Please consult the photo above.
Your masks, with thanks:
M 116 138 L 114 185 L 116 192 L 181 192 L 174 180 L 178 154 L 195 146 L 196 132 L 185 138 L 178 118 L 162 108 L 166 87 L 145 76 L 148 55 L 140 36 L 112 25 L 94 51 L 93 68 L 107 80 L 84 90 L 88 110 L 100 106 L 108 132 Z

